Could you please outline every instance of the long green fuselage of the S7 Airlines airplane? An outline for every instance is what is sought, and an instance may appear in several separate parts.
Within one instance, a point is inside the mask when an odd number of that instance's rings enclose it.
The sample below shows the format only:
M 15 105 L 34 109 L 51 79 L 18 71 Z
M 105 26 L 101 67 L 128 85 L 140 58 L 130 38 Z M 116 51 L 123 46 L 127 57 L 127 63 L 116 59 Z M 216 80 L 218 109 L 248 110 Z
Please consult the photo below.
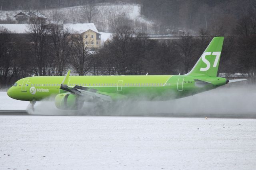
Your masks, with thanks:
M 23 101 L 40 101 L 60 93 L 64 76 L 26 77 L 18 80 L 8 90 L 8 96 Z M 207 82 L 197 85 L 195 80 Z M 97 90 L 96 93 L 120 100 L 141 97 L 143 100 L 169 100 L 201 93 L 226 84 L 225 78 L 193 77 L 188 75 L 120 75 L 120 76 L 70 76 L 68 86 L 75 85 Z

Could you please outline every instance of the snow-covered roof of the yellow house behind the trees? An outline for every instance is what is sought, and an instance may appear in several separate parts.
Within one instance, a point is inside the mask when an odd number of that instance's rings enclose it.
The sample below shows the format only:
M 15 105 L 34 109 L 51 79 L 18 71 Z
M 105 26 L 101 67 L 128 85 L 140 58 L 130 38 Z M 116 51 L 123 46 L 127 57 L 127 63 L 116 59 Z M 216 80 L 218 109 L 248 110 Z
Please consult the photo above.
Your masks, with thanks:
M 85 24 L 63 24 L 63 29 L 70 29 L 73 32 L 78 32 L 79 34 L 86 32 L 87 30 L 92 30 L 96 33 L 99 33 L 96 26 L 93 23 Z

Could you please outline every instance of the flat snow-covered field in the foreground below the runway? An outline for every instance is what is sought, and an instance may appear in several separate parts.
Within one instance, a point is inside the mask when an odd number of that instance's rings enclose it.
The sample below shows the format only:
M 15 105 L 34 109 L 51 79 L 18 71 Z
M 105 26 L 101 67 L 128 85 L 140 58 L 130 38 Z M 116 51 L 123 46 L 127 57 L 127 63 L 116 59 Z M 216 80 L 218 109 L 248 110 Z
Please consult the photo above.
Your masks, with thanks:
M 1 116 L 0 169 L 255 169 L 255 119 Z

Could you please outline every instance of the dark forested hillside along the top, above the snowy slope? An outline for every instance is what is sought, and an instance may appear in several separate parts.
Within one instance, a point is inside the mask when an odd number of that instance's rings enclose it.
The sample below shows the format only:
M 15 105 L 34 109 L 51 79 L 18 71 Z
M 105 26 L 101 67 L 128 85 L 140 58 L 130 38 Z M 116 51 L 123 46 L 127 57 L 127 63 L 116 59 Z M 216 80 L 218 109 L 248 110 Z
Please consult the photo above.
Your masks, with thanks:
M 200 28 L 211 34 L 231 34 L 236 22 L 256 8 L 255 0 L 0 0 L 2 10 L 42 10 L 88 3 L 138 4 L 141 15 L 154 20 L 158 33 L 166 34 L 178 29 L 196 34 Z

